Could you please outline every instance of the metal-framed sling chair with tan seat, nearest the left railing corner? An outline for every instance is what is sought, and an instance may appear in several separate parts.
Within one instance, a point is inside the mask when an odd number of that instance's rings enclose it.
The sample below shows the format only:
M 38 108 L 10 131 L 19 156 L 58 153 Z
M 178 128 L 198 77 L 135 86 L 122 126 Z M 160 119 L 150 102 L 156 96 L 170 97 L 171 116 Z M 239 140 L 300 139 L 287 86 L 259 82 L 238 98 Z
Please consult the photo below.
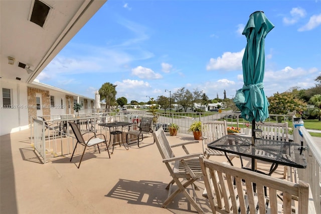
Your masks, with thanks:
M 98 152 L 100 153 L 98 144 L 100 144 L 100 143 L 105 143 L 105 144 L 106 144 L 106 149 L 105 149 L 105 150 L 107 150 L 108 156 L 109 156 L 109 158 L 110 158 L 110 154 L 109 154 L 109 150 L 108 150 L 108 145 L 107 145 L 106 137 L 105 137 L 103 134 L 96 134 L 96 133 L 93 132 L 93 131 L 90 131 L 90 132 L 86 132 L 86 133 L 81 134 L 80 129 L 79 129 L 79 127 L 77 126 L 76 123 L 74 123 L 74 122 L 68 122 L 68 123 L 69 123 L 69 125 L 71 126 L 71 129 L 72 129 L 72 131 L 74 132 L 74 135 L 75 135 L 75 137 L 76 137 L 76 139 L 77 139 L 77 143 L 76 143 L 76 145 L 75 145 L 74 151 L 72 152 L 72 156 L 71 156 L 70 161 L 72 160 L 72 157 L 74 156 L 74 153 L 75 153 L 75 151 L 76 151 L 77 145 L 78 145 L 78 144 L 81 144 L 81 145 L 84 146 L 84 151 L 82 152 L 82 155 L 81 155 L 81 158 L 80 158 L 80 162 L 79 162 L 78 168 L 80 167 L 82 158 L 83 158 L 83 156 L 84 156 L 84 153 L 85 153 L 87 147 L 91 147 L 91 146 L 96 146 L 96 145 L 97 145 L 97 147 L 98 147 Z M 94 135 L 93 135 L 92 137 L 90 137 L 90 138 L 88 139 L 88 141 L 85 141 L 83 136 L 84 136 L 85 134 L 88 134 L 88 133 L 93 133 Z M 103 137 L 104 137 L 104 140 L 103 140 L 103 139 L 100 139 L 100 138 L 97 138 L 97 136 L 99 136 L 99 135 L 103 136 Z

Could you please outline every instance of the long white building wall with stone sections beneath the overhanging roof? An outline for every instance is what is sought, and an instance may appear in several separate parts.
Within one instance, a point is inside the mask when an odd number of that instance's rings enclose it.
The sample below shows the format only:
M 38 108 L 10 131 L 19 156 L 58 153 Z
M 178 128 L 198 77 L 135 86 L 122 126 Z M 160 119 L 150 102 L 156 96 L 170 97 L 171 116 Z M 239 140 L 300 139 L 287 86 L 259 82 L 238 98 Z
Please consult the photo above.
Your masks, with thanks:
M 4 108 L 3 88 L 11 90 L 12 108 Z M 64 92 L 49 90 L 47 88 L 36 88 L 33 84 L 27 84 L 15 80 L 5 80 L 0 78 L 0 135 L 10 134 L 21 130 L 29 129 L 31 117 L 37 116 L 36 95 L 41 94 L 42 107 L 39 115 L 50 120 L 49 115 L 54 115 L 54 119 L 60 118 L 60 115 L 74 114 L 73 100 L 74 96 L 67 95 Z M 55 106 L 51 106 L 50 96 L 55 97 Z M 76 97 L 77 98 L 77 97 Z M 71 112 L 68 111 L 68 102 L 70 99 Z M 63 108 L 61 108 L 63 100 Z M 84 106 L 79 113 L 85 113 L 93 100 L 79 97 L 79 102 L 84 102 Z M 87 104 L 86 104 L 87 103 Z M 46 117 L 47 116 L 47 117 Z

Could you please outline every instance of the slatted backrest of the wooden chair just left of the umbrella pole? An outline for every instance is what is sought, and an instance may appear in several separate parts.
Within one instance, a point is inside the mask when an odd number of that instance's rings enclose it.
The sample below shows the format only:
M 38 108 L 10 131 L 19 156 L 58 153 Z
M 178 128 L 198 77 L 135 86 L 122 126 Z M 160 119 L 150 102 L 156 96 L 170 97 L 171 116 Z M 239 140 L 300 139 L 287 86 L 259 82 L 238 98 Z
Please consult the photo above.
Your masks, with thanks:
M 202 123 L 202 142 L 204 151 L 207 144 L 227 135 L 227 125 L 226 121 L 206 121 Z

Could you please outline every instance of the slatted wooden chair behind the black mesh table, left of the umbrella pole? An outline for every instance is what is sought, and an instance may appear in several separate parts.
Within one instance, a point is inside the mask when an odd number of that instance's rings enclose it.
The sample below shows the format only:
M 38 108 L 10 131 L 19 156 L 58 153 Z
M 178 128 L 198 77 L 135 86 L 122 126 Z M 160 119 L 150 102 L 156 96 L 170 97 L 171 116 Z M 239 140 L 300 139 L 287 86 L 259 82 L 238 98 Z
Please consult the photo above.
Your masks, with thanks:
M 210 156 L 224 156 L 224 152 L 207 148 L 207 144 L 227 135 L 226 121 L 206 121 L 202 123 L 202 144 L 206 158 Z M 230 160 L 238 157 L 235 154 L 227 154 Z

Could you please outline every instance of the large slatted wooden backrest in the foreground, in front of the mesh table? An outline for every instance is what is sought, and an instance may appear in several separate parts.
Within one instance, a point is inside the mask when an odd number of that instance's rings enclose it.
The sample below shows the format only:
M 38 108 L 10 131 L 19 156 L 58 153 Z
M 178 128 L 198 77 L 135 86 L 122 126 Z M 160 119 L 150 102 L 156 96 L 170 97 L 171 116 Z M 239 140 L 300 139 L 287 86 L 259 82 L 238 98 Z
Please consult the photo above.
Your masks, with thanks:
M 292 198 L 298 198 L 298 213 L 308 213 L 309 185 L 304 181 L 292 183 L 279 178 L 262 175 L 250 170 L 219 163 L 200 156 L 204 183 L 213 213 L 292 213 Z M 253 183 L 256 192 L 253 191 Z M 264 193 L 267 188 L 268 197 Z M 278 199 L 282 192 L 283 201 Z M 282 205 L 279 205 L 283 203 Z M 267 207 L 266 207 L 266 204 Z M 221 211 L 222 210 L 222 211 Z M 278 212 L 279 211 L 279 212 Z

